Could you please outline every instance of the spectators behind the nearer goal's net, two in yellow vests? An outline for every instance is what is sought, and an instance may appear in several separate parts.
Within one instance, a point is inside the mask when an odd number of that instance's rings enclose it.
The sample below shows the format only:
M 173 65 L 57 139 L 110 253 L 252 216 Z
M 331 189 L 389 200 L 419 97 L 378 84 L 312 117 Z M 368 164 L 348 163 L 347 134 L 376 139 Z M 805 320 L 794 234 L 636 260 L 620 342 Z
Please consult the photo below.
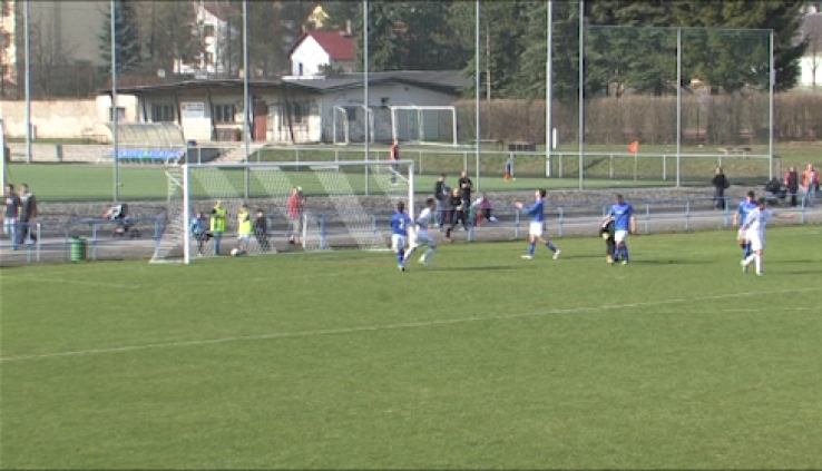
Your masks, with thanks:
M 305 210 L 305 194 L 302 188 L 295 186 L 292 188 L 288 197 L 288 244 L 300 244 L 300 235 L 302 234 L 303 213 Z M 197 256 L 204 256 L 205 245 L 214 239 L 212 253 L 219 255 L 219 246 L 223 235 L 226 232 L 228 212 L 223 207 L 222 202 L 217 202 L 208 215 L 198 212 L 195 214 L 190 223 L 190 233 L 197 243 Z M 248 205 L 243 204 L 237 212 L 237 249 L 239 253 L 247 253 L 251 248 L 252 236 L 257 242 L 260 251 L 271 251 L 271 242 L 268 241 L 268 218 L 263 208 L 256 209 L 256 217 L 252 219 Z

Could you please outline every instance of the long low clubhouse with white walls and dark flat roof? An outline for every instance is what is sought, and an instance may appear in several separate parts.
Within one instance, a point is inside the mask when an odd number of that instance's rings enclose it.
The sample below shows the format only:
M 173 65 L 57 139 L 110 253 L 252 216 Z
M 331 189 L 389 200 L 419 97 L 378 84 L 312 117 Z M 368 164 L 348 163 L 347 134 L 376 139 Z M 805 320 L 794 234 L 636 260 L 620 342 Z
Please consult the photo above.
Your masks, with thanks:
M 309 144 L 339 140 L 335 133 L 341 130 L 341 109 L 346 112 L 342 119 L 350 121 L 351 140 L 363 137 L 363 85 L 360 73 L 249 80 L 248 107 L 243 106 L 239 79 L 189 80 L 118 90 L 124 96 L 136 97 L 137 122 L 176 122 L 186 139 L 237 140 L 244 130 L 243 110 L 249 109 L 248 131 L 254 141 Z M 374 115 L 374 140 L 391 139 L 389 106 L 450 106 L 467 85 L 458 70 L 370 73 L 369 108 Z M 130 120 L 128 110 L 125 111 L 124 117 Z

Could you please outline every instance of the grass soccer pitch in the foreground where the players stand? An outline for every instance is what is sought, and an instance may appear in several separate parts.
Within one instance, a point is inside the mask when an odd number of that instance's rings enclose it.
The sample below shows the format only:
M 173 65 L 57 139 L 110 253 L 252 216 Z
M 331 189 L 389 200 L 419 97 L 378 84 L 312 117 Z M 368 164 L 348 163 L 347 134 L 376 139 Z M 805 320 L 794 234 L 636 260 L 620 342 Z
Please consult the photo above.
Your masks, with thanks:
M 2 269 L 2 468 L 819 469 L 819 241 Z

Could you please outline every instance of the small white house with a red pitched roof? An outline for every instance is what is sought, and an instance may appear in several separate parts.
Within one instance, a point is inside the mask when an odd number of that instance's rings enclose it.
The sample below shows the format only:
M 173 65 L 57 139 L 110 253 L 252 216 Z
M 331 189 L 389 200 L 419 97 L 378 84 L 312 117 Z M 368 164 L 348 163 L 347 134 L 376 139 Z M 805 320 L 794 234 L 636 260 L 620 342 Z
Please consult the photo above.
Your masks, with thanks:
M 353 72 L 356 38 L 349 31 L 309 31 L 288 51 L 291 75 L 322 75 L 323 66 L 340 72 Z

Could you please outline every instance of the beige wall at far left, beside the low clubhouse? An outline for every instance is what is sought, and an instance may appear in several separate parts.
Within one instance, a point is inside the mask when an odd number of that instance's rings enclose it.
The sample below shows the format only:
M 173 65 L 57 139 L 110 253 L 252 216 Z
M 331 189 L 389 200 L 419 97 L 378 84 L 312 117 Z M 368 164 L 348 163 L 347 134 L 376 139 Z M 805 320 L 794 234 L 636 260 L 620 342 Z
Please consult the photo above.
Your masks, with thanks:
M 80 139 L 91 135 L 106 136 L 100 122 L 108 120 L 111 98 L 97 97 L 96 100 L 38 100 L 31 101 L 31 124 L 37 138 Z M 137 99 L 119 96 L 119 107 L 126 108 L 125 121 L 134 121 Z M 6 125 L 6 135 L 11 138 L 26 136 L 26 101 L 0 101 L 0 116 Z

